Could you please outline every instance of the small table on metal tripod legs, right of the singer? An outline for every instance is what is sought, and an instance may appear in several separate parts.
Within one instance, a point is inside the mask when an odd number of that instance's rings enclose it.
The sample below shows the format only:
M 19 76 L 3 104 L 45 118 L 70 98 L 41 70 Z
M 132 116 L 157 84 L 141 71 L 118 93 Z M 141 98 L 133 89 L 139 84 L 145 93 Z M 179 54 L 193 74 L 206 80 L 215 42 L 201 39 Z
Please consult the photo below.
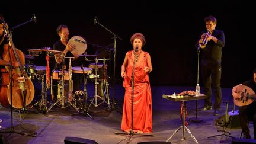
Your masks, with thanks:
M 167 139 L 166 141 L 168 142 L 174 135 L 175 133 L 178 132 L 178 130 L 180 130 L 181 128 L 183 128 L 183 135 L 182 135 L 182 141 L 185 141 L 185 137 L 184 137 L 184 134 L 185 134 L 185 129 L 187 130 L 187 132 L 191 135 L 192 139 L 196 142 L 196 137 L 194 137 L 192 135 L 192 133 L 190 132 L 190 130 L 188 129 L 187 126 L 185 126 L 185 110 L 186 110 L 186 101 L 189 101 L 189 100 L 200 100 L 200 99 L 204 99 L 206 98 L 206 95 L 204 94 L 200 94 L 198 96 L 188 96 L 188 95 L 185 95 L 183 97 L 177 97 L 177 98 L 174 98 L 174 97 L 171 97 L 171 95 L 162 95 L 163 98 L 167 99 L 167 100 L 171 100 L 171 101 L 182 101 L 183 102 L 183 124 L 182 126 L 178 127 L 178 129 L 175 130 L 174 133 L 172 133 L 171 137 L 169 137 L 169 139 Z

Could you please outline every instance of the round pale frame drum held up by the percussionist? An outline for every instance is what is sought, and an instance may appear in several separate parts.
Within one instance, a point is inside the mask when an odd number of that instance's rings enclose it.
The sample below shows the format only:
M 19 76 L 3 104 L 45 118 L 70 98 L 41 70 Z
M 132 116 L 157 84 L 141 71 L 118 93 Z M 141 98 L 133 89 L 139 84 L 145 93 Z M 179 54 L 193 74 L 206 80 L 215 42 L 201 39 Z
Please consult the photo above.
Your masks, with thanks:
M 73 36 L 69 39 L 68 43 L 75 45 L 75 50 L 72 50 L 73 55 L 82 55 L 87 49 L 87 43 L 84 38 L 80 36 Z

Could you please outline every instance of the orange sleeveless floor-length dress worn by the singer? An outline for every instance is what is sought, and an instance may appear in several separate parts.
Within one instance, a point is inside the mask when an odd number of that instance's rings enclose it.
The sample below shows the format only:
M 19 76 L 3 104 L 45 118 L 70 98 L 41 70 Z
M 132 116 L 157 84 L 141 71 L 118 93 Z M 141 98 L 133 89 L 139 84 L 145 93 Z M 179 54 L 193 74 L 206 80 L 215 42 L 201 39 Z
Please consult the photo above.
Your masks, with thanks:
M 132 73 L 133 60 L 132 51 L 128 53 L 128 64 L 126 76 L 123 81 L 125 88 L 123 117 L 121 129 L 124 132 L 130 132 L 132 129 Z M 133 94 L 133 132 L 143 131 L 143 133 L 152 132 L 152 100 L 151 87 L 149 84 L 148 72 L 143 71 L 147 65 L 147 52 L 142 52 L 135 64 L 134 94 Z

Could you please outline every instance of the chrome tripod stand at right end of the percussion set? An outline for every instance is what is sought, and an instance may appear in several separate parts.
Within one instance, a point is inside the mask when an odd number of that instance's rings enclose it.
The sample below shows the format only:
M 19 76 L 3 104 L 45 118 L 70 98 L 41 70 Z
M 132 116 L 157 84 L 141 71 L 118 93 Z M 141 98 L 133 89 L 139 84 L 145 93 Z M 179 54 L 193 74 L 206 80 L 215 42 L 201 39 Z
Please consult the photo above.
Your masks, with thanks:
M 97 58 L 95 59 L 95 67 L 96 67 L 95 68 L 95 75 L 94 75 L 94 78 L 95 78 L 94 94 L 95 95 L 94 95 L 94 98 L 92 98 L 91 103 L 89 104 L 88 110 L 89 110 L 89 108 L 91 107 L 92 104 L 94 105 L 94 107 L 98 107 L 99 105 L 101 105 L 103 103 L 106 103 L 108 105 L 107 108 L 110 108 L 107 80 L 104 79 L 104 87 L 105 87 L 105 94 L 104 94 L 104 96 L 106 95 L 107 101 L 105 101 L 104 97 L 102 98 L 99 95 L 97 95 L 97 87 L 98 87 L 98 84 L 99 84 L 98 83 L 98 77 L 99 77 L 99 75 L 98 75 L 98 61 L 99 60 L 110 60 L 110 59 L 97 59 Z M 97 103 L 98 98 L 100 98 L 100 100 L 102 100 L 100 104 Z M 94 100 L 95 100 L 95 103 L 94 103 Z M 108 109 L 106 109 L 106 110 L 108 110 Z M 100 111 L 97 111 L 97 112 L 100 112 Z

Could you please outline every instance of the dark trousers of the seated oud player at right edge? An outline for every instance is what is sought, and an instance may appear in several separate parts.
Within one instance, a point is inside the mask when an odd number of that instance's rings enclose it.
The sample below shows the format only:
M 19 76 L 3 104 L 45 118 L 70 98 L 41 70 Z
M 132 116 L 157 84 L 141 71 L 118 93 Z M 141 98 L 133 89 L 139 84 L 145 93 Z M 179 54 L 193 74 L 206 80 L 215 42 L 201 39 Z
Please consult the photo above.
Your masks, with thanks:
M 249 105 L 239 107 L 239 119 L 244 136 L 249 136 L 249 121 L 253 121 L 254 139 L 256 139 L 256 101 Z

